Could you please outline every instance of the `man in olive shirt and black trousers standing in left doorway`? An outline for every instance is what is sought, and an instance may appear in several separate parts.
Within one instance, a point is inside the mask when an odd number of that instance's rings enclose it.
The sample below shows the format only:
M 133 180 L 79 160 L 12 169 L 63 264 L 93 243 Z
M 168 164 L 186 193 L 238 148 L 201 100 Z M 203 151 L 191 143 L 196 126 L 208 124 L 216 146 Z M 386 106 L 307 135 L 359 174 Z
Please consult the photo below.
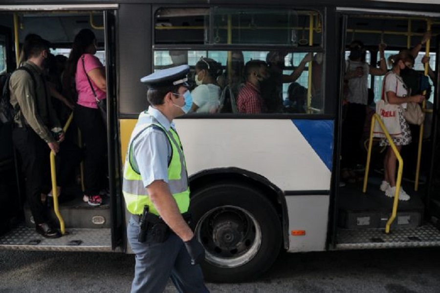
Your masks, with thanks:
M 22 64 L 25 70 L 16 70 L 9 82 L 11 104 L 17 110 L 12 140 L 22 158 L 26 197 L 36 230 L 46 238 L 57 238 L 61 234 L 49 224 L 48 211 L 41 197 L 50 190 L 50 150 L 58 152 L 58 143 L 63 141 L 64 133 L 60 133 L 57 141 L 49 130 L 61 127 L 44 78 L 49 42 L 36 35 L 26 39 L 23 52 L 27 61 Z

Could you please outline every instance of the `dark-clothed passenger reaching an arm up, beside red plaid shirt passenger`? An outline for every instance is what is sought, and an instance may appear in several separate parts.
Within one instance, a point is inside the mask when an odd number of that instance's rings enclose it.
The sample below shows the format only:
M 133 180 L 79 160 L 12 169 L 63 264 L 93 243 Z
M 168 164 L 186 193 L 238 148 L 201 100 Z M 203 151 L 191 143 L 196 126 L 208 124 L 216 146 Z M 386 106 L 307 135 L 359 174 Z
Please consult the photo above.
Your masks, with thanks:
M 283 109 L 283 84 L 295 82 L 303 73 L 313 54 L 307 53 L 291 74 L 284 74 L 287 52 L 271 51 L 267 53 L 268 78 L 261 84 L 261 93 L 267 112 L 280 113 Z

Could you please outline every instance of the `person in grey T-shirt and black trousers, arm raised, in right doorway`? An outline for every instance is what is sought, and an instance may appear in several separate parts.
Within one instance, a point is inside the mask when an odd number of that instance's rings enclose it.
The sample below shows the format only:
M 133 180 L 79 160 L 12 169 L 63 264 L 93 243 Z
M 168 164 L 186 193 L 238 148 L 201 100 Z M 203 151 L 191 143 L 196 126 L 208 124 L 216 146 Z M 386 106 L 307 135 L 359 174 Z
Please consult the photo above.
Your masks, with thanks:
M 355 182 L 355 168 L 362 157 L 360 139 L 362 137 L 365 113 L 368 101 L 368 75 L 385 75 L 385 44 L 379 44 L 380 67 L 370 66 L 365 62 L 366 48 L 361 41 L 350 44 L 349 60 L 345 63 L 344 80 L 348 83 L 346 116 L 342 124 L 342 172 L 343 181 Z

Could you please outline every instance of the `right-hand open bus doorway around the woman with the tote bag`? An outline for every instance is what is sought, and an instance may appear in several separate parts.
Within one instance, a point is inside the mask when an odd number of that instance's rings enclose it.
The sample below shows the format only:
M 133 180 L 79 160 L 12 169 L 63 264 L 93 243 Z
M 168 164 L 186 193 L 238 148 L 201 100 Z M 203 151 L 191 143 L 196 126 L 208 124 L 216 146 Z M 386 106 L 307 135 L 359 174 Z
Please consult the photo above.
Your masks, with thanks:
M 440 233 L 435 228 L 436 219 L 431 213 L 434 208 L 429 208 L 429 203 L 433 202 L 433 193 L 429 190 L 435 181 L 431 170 L 434 166 L 431 156 L 435 153 L 433 146 L 436 141 L 433 131 L 435 124 L 432 120 L 436 114 L 429 108 L 433 108 L 433 105 L 436 107 L 437 83 L 435 79 L 429 80 L 428 77 L 424 77 L 425 65 L 421 63 L 422 58 L 429 54 L 430 68 L 436 68 L 437 63 L 434 59 L 438 56 L 438 45 L 434 41 L 435 38 L 431 38 L 431 42 L 425 40 L 427 31 L 432 35 L 437 33 L 433 25 L 436 20 L 416 15 L 381 15 L 380 12 L 364 15 L 353 12 L 345 16 L 346 41 L 343 44 L 345 50 L 342 50 L 342 60 L 345 61 L 341 73 L 342 162 L 334 247 L 360 249 L 438 245 Z M 389 62 L 393 61 L 396 54 L 406 54 L 409 56 L 408 60 L 413 60 L 411 70 L 417 79 L 417 86 L 421 79 L 429 82 L 426 88 L 413 87 L 413 92 L 407 94 L 423 94 L 426 97 L 426 102 L 420 104 L 421 108 L 426 109 L 425 127 L 423 129 L 418 125 L 408 126 L 412 133 L 412 141 L 405 144 L 399 153 L 403 162 L 403 174 L 399 185 L 400 189 L 406 191 L 407 197 L 402 197 L 402 194 L 396 197 L 395 192 L 387 191 L 388 188 L 383 186 L 386 172 L 384 158 L 390 147 L 387 146 L 387 140 L 376 137 L 370 140 L 372 119 L 379 119 L 379 116 L 375 116 L 375 105 L 383 97 L 384 78 L 389 76 L 390 71 L 393 73 L 392 64 Z M 409 88 L 412 86 L 411 80 L 406 80 L 404 73 L 398 78 L 405 79 Z M 360 87 L 365 90 L 365 101 L 360 99 L 363 93 L 359 91 Z M 353 130 L 354 120 L 359 117 L 359 127 Z M 422 151 L 418 161 L 419 138 Z M 367 162 L 369 152 L 371 160 Z M 347 158 L 351 160 L 351 164 L 344 164 Z M 396 182 L 399 183 L 400 179 L 396 172 Z

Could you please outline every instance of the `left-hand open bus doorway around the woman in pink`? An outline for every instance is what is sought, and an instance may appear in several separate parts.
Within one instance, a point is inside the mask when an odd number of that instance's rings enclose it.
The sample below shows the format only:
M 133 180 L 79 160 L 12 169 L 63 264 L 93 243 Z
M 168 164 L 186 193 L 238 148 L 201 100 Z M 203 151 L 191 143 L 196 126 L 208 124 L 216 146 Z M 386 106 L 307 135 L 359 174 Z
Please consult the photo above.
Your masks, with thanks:
M 100 6 L 99 10 L 91 10 L 90 7 L 81 7 L 81 5 L 77 5 L 77 7 L 73 8 L 69 6 L 69 10 L 66 10 L 62 5 L 57 5 L 57 7 L 54 6 L 51 9 L 45 6 L 44 11 L 39 11 L 38 7 L 34 7 L 35 9 L 32 11 L 4 11 L 1 12 L 0 24 L 9 28 L 11 31 L 16 29 L 16 34 L 12 38 L 12 42 L 7 46 L 7 50 L 12 52 L 14 47 L 21 48 L 26 35 L 33 33 L 48 40 L 51 43 L 51 54 L 56 57 L 60 56 L 60 60 L 66 60 L 66 58 L 69 57 L 75 35 L 77 35 L 81 29 L 90 29 L 96 36 L 97 41 L 97 52 L 95 56 L 106 68 L 105 75 L 108 93 L 106 101 L 108 101 L 110 106 L 108 107 L 107 133 L 105 134 L 107 137 L 112 137 L 117 140 L 117 136 L 114 135 L 115 132 L 117 133 L 115 129 L 116 124 L 114 122 L 116 119 L 116 111 L 115 107 L 112 106 L 115 105 L 114 101 L 116 98 L 114 78 L 116 63 L 115 16 L 113 11 L 103 10 L 107 9 L 105 6 L 106 5 Z M 117 7 L 117 5 L 108 6 L 109 9 L 111 8 L 113 10 Z M 77 10 L 74 10 L 75 8 Z M 17 43 L 17 46 L 13 45 L 14 42 Z M 8 56 L 8 62 L 12 61 L 14 61 L 13 56 Z M 8 72 L 12 71 L 12 67 L 8 68 Z M 58 92 L 63 96 L 65 94 L 62 88 L 59 89 Z M 75 101 L 71 102 L 75 106 Z M 68 124 L 67 121 L 70 121 L 69 117 L 72 113 L 70 108 L 71 107 L 67 107 L 65 119 L 60 117 L 60 121 L 62 120 L 61 122 L 64 125 Z M 60 116 L 62 115 L 60 114 Z M 3 139 L 2 136 L 1 142 L 7 143 L 10 148 L 13 146 L 10 138 Z M 103 199 L 102 205 L 92 207 L 83 201 L 83 174 L 85 166 L 84 164 L 80 164 L 80 162 L 84 161 L 86 148 L 90 146 L 85 144 L 81 133 L 74 123 L 66 128 L 66 140 L 60 143 L 60 148 L 66 146 L 67 142 L 71 144 L 69 150 L 73 150 L 71 153 L 67 153 L 65 157 L 57 156 L 54 169 L 57 170 L 59 164 L 63 164 L 63 158 L 68 157 L 70 154 L 79 159 L 74 162 L 76 165 L 68 178 L 60 180 L 60 174 L 56 173 L 57 182 L 63 182 L 64 184 L 64 186 L 61 186 L 61 194 L 57 197 L 58 210 L 62 220 L 57 216 L 57 212 L 55 212 L 57 206 L 55 200 L 51 200 L 50 197 L 44 200 L 42 196 L 44 204 L 48 206 L 50 211 L 50 222 L 53 223 L 54 226 L 60 225 L 61 230 L 63 230 L 64 226 L 65 234 L 61 238 L 47 239 L 35 232 L 35 221 L 33 220 L 28 205 L 25 203 L 25 191 L 23 189 L 21 196 L 18 197 L 15 196 L 18 188 L 15 188 L 5 193 L 2 192 L 2 196 L 4 195 L 7 198 L 20 198 L 20 212 L 19 216 L 14 218 L 14 221 L 4 221 L 5 229 L 0 234 L 0 247 L 20 250 L 58 251 L 114 251 L 116 248 L 123 247 L 124 238 L 122 238 L 122 234 L 124 225 L 120 209 L 121 197 L 115 191 L 116 179 L 114 179 L 114 175 L 108 171 L 110 167 L 111 170 L 120 168 L 114 165 L 115 162 L 117 162 L 113 156 L 117 153 L 114 150 L 116 144 L 114 142 L 110 144 L 107 142 L 109 149 L 106 150 L 106 152 L 109 155 L 106 155 L 107 162 L 105 167 L 103 167 L 103 170 L 107 170 L 105 173 L 108 174 L 107 179 L 105 179 L 108 182 L 107 188 L 103 186 L 100 194 Z M 110 145 L 112 145 L 112 147 L 110 147 Z M 79 155 L 77 156 L 77 154 Z M 119 155 L 116 154 L 116 157 L 119 157 Z M 20 162 L 20 158 L 18 158 L 17 162 Z M 47 164 L 50 164 L 49 157 L 47 157 Z M 18 163 L 15 167 L 17 169 L 17 177 L 24 181 L 21 165 Z M 103 177 L 106 177 L 106 174 L 102 174 Z M 24 188 L 24 185 L 21 187 Z

